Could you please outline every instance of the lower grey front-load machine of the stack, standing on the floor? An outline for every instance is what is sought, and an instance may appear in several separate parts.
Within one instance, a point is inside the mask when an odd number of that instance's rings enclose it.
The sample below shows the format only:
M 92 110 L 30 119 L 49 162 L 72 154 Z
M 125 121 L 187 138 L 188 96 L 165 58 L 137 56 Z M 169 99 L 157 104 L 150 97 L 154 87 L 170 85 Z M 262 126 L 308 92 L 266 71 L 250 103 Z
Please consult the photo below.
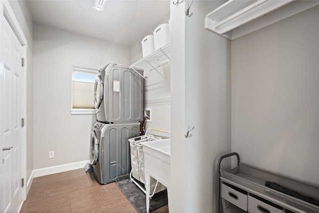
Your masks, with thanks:
M 91 132 L 91 164 L 100 184 L 115 181 L 131 171 L 128 139 L 140 135 L 140 123 L 104 124 L 96 122 Z

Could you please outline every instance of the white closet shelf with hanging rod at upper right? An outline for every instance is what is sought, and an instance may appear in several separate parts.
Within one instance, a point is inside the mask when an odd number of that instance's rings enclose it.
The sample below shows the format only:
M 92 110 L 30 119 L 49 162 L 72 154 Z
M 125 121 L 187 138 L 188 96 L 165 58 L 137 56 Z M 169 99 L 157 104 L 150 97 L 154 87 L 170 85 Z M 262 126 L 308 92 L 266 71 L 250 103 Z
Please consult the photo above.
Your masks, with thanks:
M 232 40 L 317 5 L 318 0 L 228 0 L 205 15 L 205 28 Z

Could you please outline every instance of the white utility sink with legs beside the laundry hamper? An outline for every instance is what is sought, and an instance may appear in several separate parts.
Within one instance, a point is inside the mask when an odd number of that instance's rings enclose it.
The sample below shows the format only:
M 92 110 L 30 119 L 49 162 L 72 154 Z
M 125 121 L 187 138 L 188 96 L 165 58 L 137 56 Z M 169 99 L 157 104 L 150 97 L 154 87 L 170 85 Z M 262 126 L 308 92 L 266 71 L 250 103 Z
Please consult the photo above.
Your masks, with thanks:
M 150 208 L 151 176 L 167 188 L 169 203 L 170 194 L 170 138 L 142 142 L 144 151 L 144 170 L 146 187 L 146 209 Z

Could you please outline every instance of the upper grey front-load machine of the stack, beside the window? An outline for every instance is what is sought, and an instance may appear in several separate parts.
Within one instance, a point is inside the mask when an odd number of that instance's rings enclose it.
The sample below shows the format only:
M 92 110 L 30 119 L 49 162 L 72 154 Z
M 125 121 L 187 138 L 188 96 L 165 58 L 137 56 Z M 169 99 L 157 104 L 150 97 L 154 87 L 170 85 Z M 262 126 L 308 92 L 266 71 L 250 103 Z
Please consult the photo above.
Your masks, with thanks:
M 143 70 L 108 64 L 95 78 L 96 120 L 101 123 L 143 121 Z

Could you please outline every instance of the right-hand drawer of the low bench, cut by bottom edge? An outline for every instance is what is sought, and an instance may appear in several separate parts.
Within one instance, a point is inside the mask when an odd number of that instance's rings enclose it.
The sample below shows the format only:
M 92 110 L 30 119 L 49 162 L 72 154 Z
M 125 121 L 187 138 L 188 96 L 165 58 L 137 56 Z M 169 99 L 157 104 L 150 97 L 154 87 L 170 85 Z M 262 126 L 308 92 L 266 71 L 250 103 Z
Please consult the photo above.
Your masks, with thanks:
M 255 195 L 248 196 L 249 213 L 283 213 L 284 208 Z

